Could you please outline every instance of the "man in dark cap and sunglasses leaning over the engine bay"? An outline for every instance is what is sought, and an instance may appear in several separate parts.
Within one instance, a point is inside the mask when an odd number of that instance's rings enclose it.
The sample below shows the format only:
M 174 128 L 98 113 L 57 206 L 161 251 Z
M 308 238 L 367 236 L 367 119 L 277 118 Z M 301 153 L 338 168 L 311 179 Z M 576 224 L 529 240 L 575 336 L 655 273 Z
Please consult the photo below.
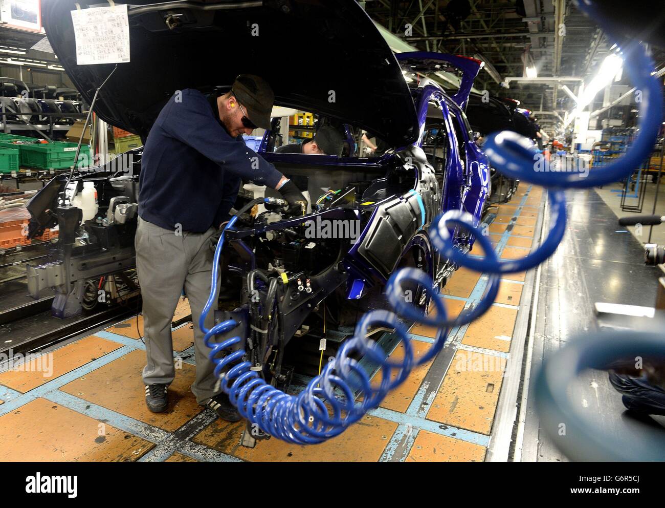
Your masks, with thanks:
M 141 158 L 136 270 L 143 298 L 147 364 L 146 404 L 168 407 L 168 385 L 176 375 L 171 321 L 184 288 L 195 324 L 211 285 L 211 236 L 228 220 L 241 180 L 278 190 L 289 212 L 305 197 L 273 164 L 247 148 L 241 134 L 270 128 L 273 91 L 260 77 L 240 75 L 224 95 L 176 92 L 150 130 Z M 217 297 L 215 296 L 215 304 Z M 213 309 L 215 309 L 213 307 Z M 213 326 L 213 312 L 205 321 Z M 194 326 L 199 404 L 227 421 L 240 419 L 213 376 L 203 333 Z

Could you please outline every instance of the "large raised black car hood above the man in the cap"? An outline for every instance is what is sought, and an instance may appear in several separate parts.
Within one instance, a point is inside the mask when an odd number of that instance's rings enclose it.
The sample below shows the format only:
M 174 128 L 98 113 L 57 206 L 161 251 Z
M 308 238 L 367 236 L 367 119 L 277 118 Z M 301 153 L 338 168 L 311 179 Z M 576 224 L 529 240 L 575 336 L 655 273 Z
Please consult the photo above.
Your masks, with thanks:
M 114 64 L 76 65 L 74 9 L 73 0 L 43 0 L 43 25 L 90 103 Z M 167 18 L 180 24 L 170 29 Z M 393 146 L 418 136 L 400 66 L 355 0 L 132 0 L 129 23 L 131 61 L 118 64 L 95 105 L 116 127 L 146 136 L 176 90 L 228 89 L 237 75 L 255 74 L 270 83 L 276 105 L 358 125 Z

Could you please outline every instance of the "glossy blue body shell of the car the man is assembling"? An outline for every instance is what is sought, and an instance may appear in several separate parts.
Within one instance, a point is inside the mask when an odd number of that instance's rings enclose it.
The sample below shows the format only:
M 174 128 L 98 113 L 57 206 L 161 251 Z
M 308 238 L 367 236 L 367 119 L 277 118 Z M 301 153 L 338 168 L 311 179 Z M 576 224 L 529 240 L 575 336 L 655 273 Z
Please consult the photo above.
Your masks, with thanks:
M 346 295 L 350 300 L 362 298 L 364 290 L 368 286 L 382 286 L 390 274 L 396 270 L 400 261 L 406 256 L 407 252 L 413 248 L 422 250 L 424 254 L 424 264 L 422 268 L 439 282 L 445 282 L 446 276 L 455 268 L 446 264 L 446 260 L 440 259 L 440 256 L 432 248 L 427 232 L 432 219 L 442 212 L 448 210 L 463 210 L 475 218 L 476 224 L 481 221 L 481 214 L 487 200 L 489 192 L 489 162 L 484 152 L 475 144 L 473 133 L 464 115 L 463 108 L 466 106 L 467 97 L 471 91 L 473 78 L 477 75 L 482 64 L 474 59 L 466 59 L 453 55 L 444 55 L 440 53 L 404 53 L 396 55 L 398 61 L 404 62 L 408 67 L 412 63 L 428 63 L 436 65 L 445 65 L 456 67 L 462 71 L 462 80 L 460 90 L 454 95 L 448 95 L 438 83 L 426 80 L 422 86 L 410 87 L 410 94 L 414 101 L 416 115 L 418 119 L 418 138 L 409 146 L 396 148 L 376 158 L 357 158 L 357 157 L 338 157 L 327 155 L 307 155 L 307 154 L 286 154 L 277 152 L 268 152 L 267 147 L 270 144 L 271 131 L 265 132 L 263 140 L 257 152 L 270 162 L 273 162 L 280 170 L 289 176 L 289 170 L 299 166 L 325 168 L 325 170 L 334 172 L 340 168 L 349 170 L 371 169 L 384 171 L 384 176 L 376 178 L 362 196 L 362 203 L 371 203 L 361 205 L 363 212 L 372 210 L 372 216 L 364 224 L 360 238 L 350 246 L 348 252 L 342 258 L 342 263 L 348 273 L 346 278 Z M 412 66 L 422 72 L 422 67 Z M 432 107 L 440 111 L 440 123 L 445 132 L 446 143 L 448 144 L 448 156 L 444 161 L 443 174 L 438 175 L 428 160 L 424 151 L 424 140 L 428 129 L 428 122 L 431 120 Z M 348 134 L 348 126 L 344 126 Z M 349 136 L 350 137 L 350 136 Z M 383 183 L 390 179 L 390 174 L 405 165 L 414 168 L 414 178 L 412 185 L 406 189 L 406 192 L 390 194 L 381 199 L 374 200 L 376 191 L 382 190 Z M 305 189 L 302 189 L 305 190 Z M 367 248 L 370 237 L 376 230 L 376 224 L 383 220 L 386 208 L 394 206 L 396 203 L 402 203 L 405 208 L 410 209 L 412 218 L 418 223 L 418 227 L 412 231 L 406 242 L 400 242 L 402 247 L 399 256 L 385 259 L 384 262 L 368 255 Z M 305 220 L 331 219 L 336 218 L 358 218 L 358 210 L 349 210 L 344 208 L 331 208 L 322 212 L 313 212 L 305 216 Z M 291 221 L 255 228 L 251 234 L 262 234 L 276 228 L 287 228 L 303 221 L 298 218 Z M 400 231 L 404 233 L 403 231 Z M 469 238 L 466 232 L 454 232 L 458 246 L 463 250 L 469 250 L 473 246 L 473 238 Z M 245 238 L 247 232 L 236 236 L 231 234 L 231 241 L 240 241 Z M 396 234 L 396 237 L 399 234 Z M 389 238 L 389 235 L 388 235 Z M 395 238 L 392 238 L 395 240 Z M 249 250 L 247 248 L 243 249 Z M 391 264 L 392 263 L 392 264 Z M 251 262 L 251 264 L 254 264 Z M 239 272 L 247 270 L 248 266 L 238 267 Z M 437 277 L 438 276 L 438 277 Z M 428 297 L 423 301 L 428 300 Z

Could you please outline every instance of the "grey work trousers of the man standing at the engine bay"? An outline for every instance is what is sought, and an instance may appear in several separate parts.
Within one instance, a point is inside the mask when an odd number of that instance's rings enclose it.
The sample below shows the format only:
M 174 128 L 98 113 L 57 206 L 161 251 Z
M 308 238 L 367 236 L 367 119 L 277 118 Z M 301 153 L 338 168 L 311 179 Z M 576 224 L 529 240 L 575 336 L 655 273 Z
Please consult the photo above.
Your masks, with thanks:
M 199 329 L 199 316 L 210 293 L 213 260 L 210 237 L 214 232 L 210 228 L 205 233 L 176 234 L 139 217 L 134 240 L 148 360 L 143 381 L 146 385 L 168 385 L 176 376 L 171 322 L 184 288 L 194 321 L 196 381 L 192 392 L 199 404 L 221 393 L 221 389 L 215 390 L 215 365 L 208 359 L 210 350 L 203 344 L 203 332 Z M 216 295 L 205 319 L 206 328 L 212 328 L 215 310 Z

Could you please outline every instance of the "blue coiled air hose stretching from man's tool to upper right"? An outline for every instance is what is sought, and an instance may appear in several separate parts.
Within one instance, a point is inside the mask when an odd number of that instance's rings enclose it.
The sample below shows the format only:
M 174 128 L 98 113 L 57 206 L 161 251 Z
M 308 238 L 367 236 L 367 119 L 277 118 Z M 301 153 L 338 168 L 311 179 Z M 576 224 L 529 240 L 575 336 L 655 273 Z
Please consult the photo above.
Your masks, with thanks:
M 593 5 L 581 2 L 579 8 L 587 15 L 597 17 Z M 643 115 L 640 119 L 640 132 L 630 150 L 621 158 L 603 166 L 602 171 L 591 170 L 587 172 L 586 178 L 579 172 L 539 172 L 534 164 L 535 155 L 539 152 L 531 148 L 531 143 L 526 138 L 515 132 L 498 132 L 488 136 L 485 141 L 483 149 L 497 170 L 511 178 L 539 184 L 548 189 L 553 226 L 541 246 L 525 258 L 499 260 L 487 237 L 473 225 L 470 214 L 454 210 L 438 216 L 432 222 L 429 232 L 432 244 L 442 256 L 458 266 L 489 274 L 487 290 L 478 304 L 460 314 L 458 318 L 449 319 L 444 300 L 436 296 L 438 291 L 427 274 L 416 268 L 399 270 L 390 277 L 386 285 L 386 296 L 395 312 L 375 310 L 362 316 L 356 325 L 354 336 L 342 344 L 337 356 L 328 362 L 321 374 L 313 378 L 298 395 L 289 395 L 276 389 L 266 383 L 258 372 L 251 370 L 251 363 L 245 360 L 245 350 L 239 349 L 242 342 L 239 336 L 219 344 L 213 342 L 216 335 L 231 332 L 237 326 L 235 321 L 221 322 L 209 330 L 204 326 L 205 316 L 217 295 L 219 256 L 224 241 L 222 233 L 215 250 L 211 293 L 199 319 L 199 327 L 205 334 L 206 346 L 211 348 L 209 358 L 215 363 L 214 372 L 221 380 L 221 389 L 229 395 L 231 403 L 237 406 L 239 413 L 265 433 L 290 443 L 321 443 L 334 437 L 342 433 L 348 425 L 358 421 L 368 410 L 378 407 L 388 391 L 406 380 L 414 367 L 434 358 L 444 347 L 452 327 L 467 324 L 486 312 L 497 296 L 501 274 L 523 272 L 549 258 L 559 246 L 566 228 L 563 189 L 588 188 L 622 180 L 633 168 L 639 166 L 654 146 L 663 116 L 660 83 L 652 75 L 653 64 L 640 45 L 633 43 L 624 48 L 622 53 L 624 65 L 635 87 L 642 91 Z M 225 230 L 232 228 L 236 220 L 237 218 L 233 217 Z M 450 236 L 451 228 L 465 228 L 475 235 L 485 256 L 472 258 L 459 250 Z M 434 316 L 422 316 L 418 308 L 402 298 L 403 282 L 420 284 L 434 296 Z M 414 358 L 408 331 L 398 316 L 438 328 L 438 336 L 424 356 Z M 376 342 L 366 338 L 369 330 L 376 326 L 395 330 L 404 345 L 404 360 L 388 360 L 386 352 Z M 227 352 L 229 353 L 226 354 Z M 370 383 L 369 374 L 352 358 L 354 355 L 364 356 L 380 366 L 382 376 L 378 386 Z M 340 393 L 342 397 L 338 396 Z M 362 395 L 362 401 L 355 403 L 358 395 Z

